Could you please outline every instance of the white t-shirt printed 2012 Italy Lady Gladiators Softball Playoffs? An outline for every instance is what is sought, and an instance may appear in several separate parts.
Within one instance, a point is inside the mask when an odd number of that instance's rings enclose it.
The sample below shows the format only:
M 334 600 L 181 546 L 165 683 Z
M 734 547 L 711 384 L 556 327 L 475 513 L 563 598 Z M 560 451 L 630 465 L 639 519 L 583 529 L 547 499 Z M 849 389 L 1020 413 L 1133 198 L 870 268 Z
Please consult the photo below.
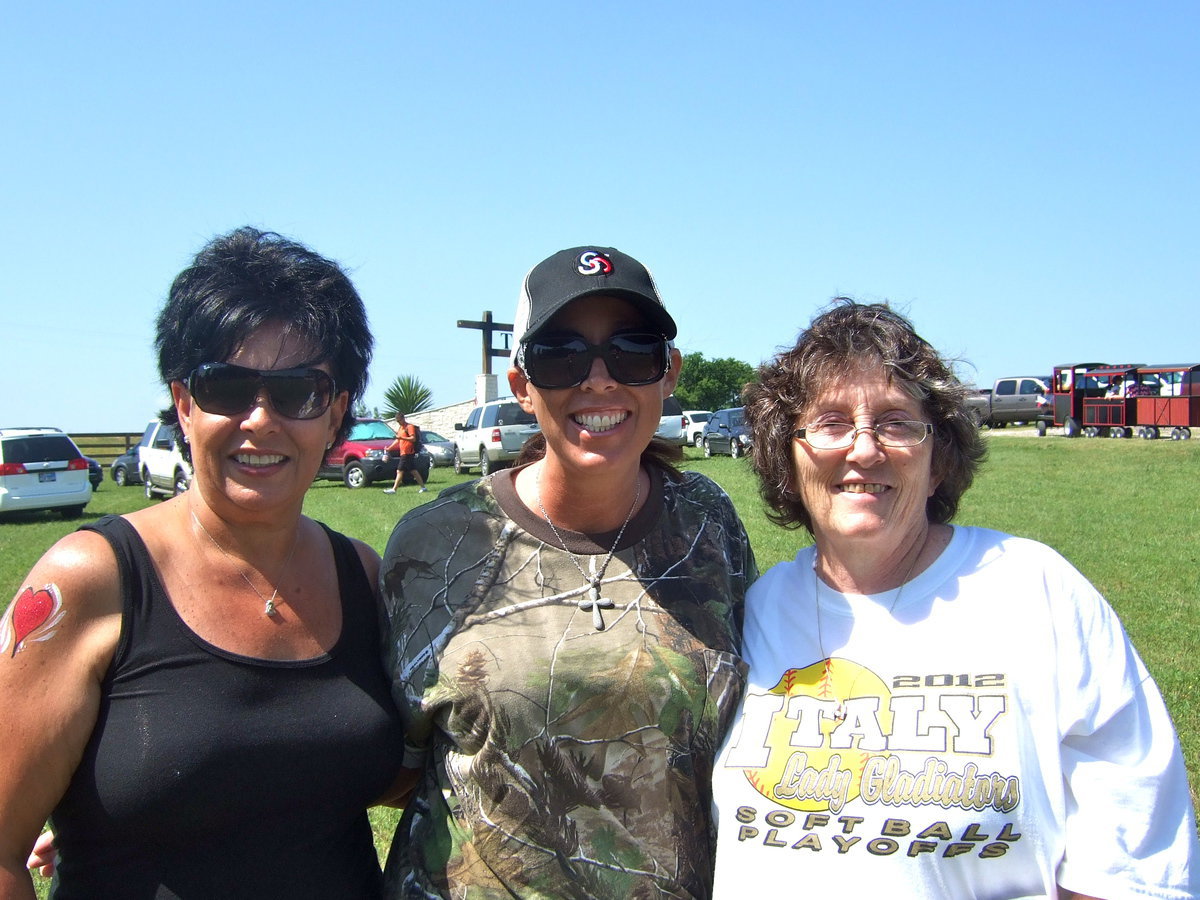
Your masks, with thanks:
M 1200 895 L 1166 708 L 1069 563 L 955 527 L 929 569 L 866 596 L 818 584 L 812 560 L 746 596 L 718 900 Z

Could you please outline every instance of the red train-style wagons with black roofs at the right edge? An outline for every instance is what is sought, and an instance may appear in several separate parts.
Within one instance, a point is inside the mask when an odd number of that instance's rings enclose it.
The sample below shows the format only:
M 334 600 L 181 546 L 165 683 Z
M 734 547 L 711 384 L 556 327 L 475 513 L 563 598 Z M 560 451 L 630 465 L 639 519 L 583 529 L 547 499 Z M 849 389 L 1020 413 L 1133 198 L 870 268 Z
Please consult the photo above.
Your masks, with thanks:
M 1200 364 L 1055 366 L 1052 390 L 1054 424 L 1069 438 L 1153 439 L 1170 428 L 1174 440 L 1187 440 L 1200 425 Z M 1038 422 L 1039 434 L 1046 424 Z

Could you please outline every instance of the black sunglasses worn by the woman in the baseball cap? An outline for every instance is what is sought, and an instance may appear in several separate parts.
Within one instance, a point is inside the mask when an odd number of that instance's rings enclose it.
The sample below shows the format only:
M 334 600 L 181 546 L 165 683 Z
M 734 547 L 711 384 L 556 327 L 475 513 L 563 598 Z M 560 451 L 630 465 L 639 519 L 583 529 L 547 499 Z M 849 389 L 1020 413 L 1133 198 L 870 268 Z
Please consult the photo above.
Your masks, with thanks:
M 613 380 L 636 388 L 662 379 L 671 354 L 662 335 L 625 332 L 601 344 L 582 337 L 541 337 L 524 346 L 524 373 L 535 388 L 576 388 L 587 380 L 592 360 L 602 359 Z

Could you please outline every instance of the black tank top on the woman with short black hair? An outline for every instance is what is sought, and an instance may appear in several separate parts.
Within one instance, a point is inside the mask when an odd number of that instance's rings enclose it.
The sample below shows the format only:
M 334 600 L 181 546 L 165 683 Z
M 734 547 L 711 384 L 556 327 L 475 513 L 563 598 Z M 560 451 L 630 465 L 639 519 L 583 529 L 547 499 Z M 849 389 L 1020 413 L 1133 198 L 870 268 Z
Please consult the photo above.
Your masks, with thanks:
M 124 614 L 95 731 L 54 810 L 52 895 L 379 896 L 366 808 L 395 776 L 403 734 L 350 541 L 325 529 L 342 600 L 337 643 L 277 661 L 196 635 L 124 518 L 84 528 L 116 553 Z

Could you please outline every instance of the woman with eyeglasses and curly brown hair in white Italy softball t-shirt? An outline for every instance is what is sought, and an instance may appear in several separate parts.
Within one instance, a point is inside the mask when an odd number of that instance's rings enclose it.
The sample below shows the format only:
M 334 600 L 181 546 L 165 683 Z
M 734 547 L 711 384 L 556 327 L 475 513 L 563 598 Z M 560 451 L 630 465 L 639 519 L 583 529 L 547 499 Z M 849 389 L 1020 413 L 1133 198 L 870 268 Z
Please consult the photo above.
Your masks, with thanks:
M 1061 556 L 950 526 L 984 456 L 886 305 L 839 300 L 746 391 L 772 517 L 815 546 L 746 598 L 715 895 L 1192 898 L 1178 740 Z

